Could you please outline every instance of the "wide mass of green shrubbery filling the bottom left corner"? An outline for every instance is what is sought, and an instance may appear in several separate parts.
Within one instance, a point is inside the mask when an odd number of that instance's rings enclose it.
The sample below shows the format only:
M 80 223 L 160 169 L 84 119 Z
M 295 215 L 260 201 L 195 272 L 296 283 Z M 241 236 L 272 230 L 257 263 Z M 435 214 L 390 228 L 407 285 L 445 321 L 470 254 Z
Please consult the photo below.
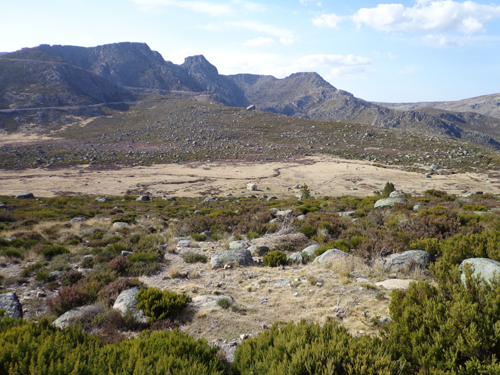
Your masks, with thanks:
M 0 320 L 1 374 L 221 375 L 226 370 L 217 347 L 178 330 L 144 331 L 106 344 L 76 326 L 61 330 L 47 320 Z

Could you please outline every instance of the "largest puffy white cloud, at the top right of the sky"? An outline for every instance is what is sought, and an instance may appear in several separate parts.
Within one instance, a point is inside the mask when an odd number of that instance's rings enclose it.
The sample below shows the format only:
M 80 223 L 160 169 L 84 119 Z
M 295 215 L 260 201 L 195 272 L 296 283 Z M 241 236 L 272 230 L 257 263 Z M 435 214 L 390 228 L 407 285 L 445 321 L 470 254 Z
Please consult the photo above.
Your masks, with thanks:
M 458 32 L 474 34 L 483 31 L 486 22 L 500 18 L 500 6 L 481 5 L 473 1 L 418 0 L 413 7 L 403 4 L 379 4 L 362 8 L 352 17 L 381 31 Z

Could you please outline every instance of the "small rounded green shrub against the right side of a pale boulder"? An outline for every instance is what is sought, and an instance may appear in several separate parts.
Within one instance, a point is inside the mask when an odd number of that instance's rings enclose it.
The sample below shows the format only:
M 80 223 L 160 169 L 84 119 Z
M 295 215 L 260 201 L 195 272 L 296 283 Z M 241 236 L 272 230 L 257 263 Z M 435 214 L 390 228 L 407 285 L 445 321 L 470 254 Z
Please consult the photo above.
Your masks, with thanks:
M 150 321 L 175 318 L 191 302 L 191 297 L 168 290 L 141 289 L 136 296 L 137 308 L 149 316 Z

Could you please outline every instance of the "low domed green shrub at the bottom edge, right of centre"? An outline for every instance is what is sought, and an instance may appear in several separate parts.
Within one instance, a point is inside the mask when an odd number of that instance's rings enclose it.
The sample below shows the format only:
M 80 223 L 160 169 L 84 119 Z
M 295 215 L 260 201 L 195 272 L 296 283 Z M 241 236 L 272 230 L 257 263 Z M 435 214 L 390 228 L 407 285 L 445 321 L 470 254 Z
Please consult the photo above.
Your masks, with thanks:
M 399 374 L 398 361 L 384 343 L 369 336 L 353 337 L 334 323 L 280 326 L 245 340 L 234 365 L 242 375 L 266 374 Z

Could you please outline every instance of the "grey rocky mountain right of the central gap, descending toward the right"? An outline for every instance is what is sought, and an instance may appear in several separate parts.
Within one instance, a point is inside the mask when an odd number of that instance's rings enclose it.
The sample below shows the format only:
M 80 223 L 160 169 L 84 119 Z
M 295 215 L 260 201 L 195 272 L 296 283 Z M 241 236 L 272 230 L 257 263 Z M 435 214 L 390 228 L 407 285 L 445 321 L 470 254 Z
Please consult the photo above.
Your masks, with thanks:
M 252 104 L 263 111 L 400 128 L 426 136 L 460 138 L 500 147 L 493 138 L 500 139 L 500 121 L 494 118 L 387 108 L 338 90 L 317 73 L 295 73 L 283 79 L 254 74 L 228 77 L 243 89 Z

